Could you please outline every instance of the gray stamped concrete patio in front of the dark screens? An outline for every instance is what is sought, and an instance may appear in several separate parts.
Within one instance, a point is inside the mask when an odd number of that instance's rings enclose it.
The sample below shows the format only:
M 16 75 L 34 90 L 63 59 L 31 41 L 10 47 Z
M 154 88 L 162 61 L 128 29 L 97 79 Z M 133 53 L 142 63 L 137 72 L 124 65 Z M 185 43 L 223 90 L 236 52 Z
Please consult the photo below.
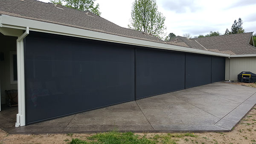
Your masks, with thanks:
M 3 110 L 0 128 L 9 133 L 230 131 L 255 104 L 256 88 L 218 82 L 17 128 L 17 109 Z

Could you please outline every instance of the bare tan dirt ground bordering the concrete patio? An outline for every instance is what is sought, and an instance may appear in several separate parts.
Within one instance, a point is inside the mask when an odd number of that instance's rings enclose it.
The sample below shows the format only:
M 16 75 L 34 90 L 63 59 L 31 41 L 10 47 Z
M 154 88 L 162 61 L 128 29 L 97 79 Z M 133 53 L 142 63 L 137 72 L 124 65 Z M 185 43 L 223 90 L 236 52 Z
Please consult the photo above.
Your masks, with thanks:
M 232 83 L 239 84 L 239 83 Z M 246 83 L 241 83 L 247 85 Z M 240 84 L 240 85 L 241 85 Z M 250 86 L 252 84 L 248 84 Z M 253 84 L 256 86 L 256 84 Z M 254 87 L 252 86 L 252 87 Z M 166 136 L 167 133 L 135 133 L 148 139 L 157 139 L 156 137 Z M 172 135 L 179 135 L 173 133 Z M 204 132 L 192 133 L 191 136 L 173 136 L 167 144 L 256 144 L 256 107 L 233 128 L 231 132 Z M 9 135 L 0 130 L 0 144 L 67 144 L 72 138 L 89 141 L 87 138 L 95 134 L 41 134 L 41 135 Z M 157 143 L 165 143 L 157 141 Z

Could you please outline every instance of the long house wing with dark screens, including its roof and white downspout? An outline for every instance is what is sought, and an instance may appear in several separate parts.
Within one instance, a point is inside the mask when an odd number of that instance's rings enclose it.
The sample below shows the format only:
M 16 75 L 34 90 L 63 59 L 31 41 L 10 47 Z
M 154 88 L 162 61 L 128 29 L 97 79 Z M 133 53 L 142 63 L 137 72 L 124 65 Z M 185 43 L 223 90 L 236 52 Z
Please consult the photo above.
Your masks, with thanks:
M 232 56 L 37 0 L 1 0 L 0 33 L 1 104 L 17 89 L 16 127 L 224 81 Z

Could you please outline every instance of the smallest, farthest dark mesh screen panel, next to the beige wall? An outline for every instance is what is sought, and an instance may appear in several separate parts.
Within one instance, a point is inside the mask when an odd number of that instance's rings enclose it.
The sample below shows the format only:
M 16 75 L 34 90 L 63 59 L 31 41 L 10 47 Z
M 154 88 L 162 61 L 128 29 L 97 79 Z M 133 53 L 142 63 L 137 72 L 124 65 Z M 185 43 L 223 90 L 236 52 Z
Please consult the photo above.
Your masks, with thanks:
M 212 57 L 212 83 L 225 80 L 225 58 Z

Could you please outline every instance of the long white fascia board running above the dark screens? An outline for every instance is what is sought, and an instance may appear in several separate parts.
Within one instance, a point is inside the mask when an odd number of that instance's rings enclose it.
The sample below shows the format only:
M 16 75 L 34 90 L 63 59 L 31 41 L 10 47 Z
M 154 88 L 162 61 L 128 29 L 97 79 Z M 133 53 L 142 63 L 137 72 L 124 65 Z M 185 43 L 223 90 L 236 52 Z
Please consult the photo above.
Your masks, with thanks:
M 93 40 L 102 40 L 102 41 L 108 41 L 113 43 L 123 43 L 123 44 L 135 45 L 135 46 L 145 46 L 145 47 L 151 47 L 151 48 L 157 48 L 157 49 L 168 49 L 168 50 L 181 51 L 181 52 L 192 52 L 192 53 L 215 55 L 215 56 L 221 56 L 221 57 L 230 56 L 230 55 L 222 54 L 218 52 L 209 52 L 205 50 L 192 49 L 192 48 L 187 48 L 183 46 L 175 46 L 170 44 L 151 42 L 147 40 L 138 40 L 135 38 L 111 35 L 111 34 L 106 34 L 102 32 L 94 32 L 94 31 L 74 28 L 70 26 L 63 26 L 63 25 L 54 24 L 54 23 L 46 23 L 38 20 L 29 20 L 29 19 L 20 18 L 20 17 L 12 17 L 8 15 L 1 15 L 0 20 L 1 20 L 1 23 L 0 23 L 1 26 L 9 27 L 9 28 L 13 27 L 16 29 L 18 28 L 26 29 L 26 27 L 29 27 L 30 31 L 36 31 L 36 32 L 46 32 L 46 33 L 52 33 L 52 34 L 58 34 L 58 35 L 67 35 L 72 37 L 82 37 L 82 38 L 93 39 Z

